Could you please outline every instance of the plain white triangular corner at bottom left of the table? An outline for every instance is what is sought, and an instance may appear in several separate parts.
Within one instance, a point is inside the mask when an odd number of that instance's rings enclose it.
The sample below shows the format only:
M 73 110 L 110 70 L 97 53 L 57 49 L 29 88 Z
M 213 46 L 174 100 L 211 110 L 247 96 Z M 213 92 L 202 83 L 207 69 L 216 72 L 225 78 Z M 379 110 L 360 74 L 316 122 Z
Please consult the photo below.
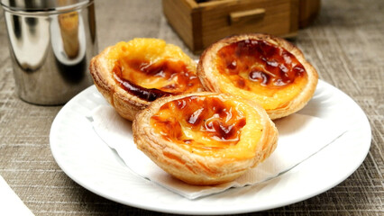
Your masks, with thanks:
M 23 201 L 14 193 L 12 188 L 6 184 L 0 175 L 0 215 L 7 216 L 32 216 L 31 210 L 25 206 Z

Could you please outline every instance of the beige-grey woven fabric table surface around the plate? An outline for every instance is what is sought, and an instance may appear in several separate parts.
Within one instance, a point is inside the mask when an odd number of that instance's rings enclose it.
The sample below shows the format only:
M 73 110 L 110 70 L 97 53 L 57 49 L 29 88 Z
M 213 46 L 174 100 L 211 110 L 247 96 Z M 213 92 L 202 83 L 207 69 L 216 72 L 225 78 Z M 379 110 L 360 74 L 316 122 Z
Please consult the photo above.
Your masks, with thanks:
M 384 1 L 322 3 L 315 23 L 299 31 L 294 43 L 321 79 L 349 94 L 366 112 L 370 152 L 350 177 L 329 191 L 259 213 L 384 215 Z M 35 215 L 161 215 L 91 193 L 59 168 L 50 153 L 49 134 L 61 106 L 32 105 L 15 95 L 3 12 L 0 15 L 0 175 Z M 96 23 L 100 50 L 119 40 L 153 37 L 197 58 L 169 27 L 160 1 L 96 0 Z

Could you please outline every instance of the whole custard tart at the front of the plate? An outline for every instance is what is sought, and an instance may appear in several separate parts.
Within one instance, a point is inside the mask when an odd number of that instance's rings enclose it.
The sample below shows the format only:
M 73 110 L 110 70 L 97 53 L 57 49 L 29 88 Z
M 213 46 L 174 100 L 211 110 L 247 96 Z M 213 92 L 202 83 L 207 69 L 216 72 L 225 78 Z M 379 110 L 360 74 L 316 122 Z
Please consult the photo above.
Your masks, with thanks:
M 269 157 L 278 130 L 257 103 L 201 92 L 151 103 L 136 115 L 133 139 L 170 175 L 211 185 L 233 181 Z

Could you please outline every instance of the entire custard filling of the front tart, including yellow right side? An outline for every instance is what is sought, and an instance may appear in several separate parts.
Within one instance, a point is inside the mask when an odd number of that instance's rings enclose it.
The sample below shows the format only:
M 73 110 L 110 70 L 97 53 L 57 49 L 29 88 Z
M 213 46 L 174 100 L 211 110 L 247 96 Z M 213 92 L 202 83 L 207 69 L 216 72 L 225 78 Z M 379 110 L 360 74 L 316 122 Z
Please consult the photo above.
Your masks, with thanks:
M 192 95 L 163 104 L 151 116 L 151 126 L 193 154 L 250 158 L 263 130 L 259 113 L 252 110 L 220 95 Z

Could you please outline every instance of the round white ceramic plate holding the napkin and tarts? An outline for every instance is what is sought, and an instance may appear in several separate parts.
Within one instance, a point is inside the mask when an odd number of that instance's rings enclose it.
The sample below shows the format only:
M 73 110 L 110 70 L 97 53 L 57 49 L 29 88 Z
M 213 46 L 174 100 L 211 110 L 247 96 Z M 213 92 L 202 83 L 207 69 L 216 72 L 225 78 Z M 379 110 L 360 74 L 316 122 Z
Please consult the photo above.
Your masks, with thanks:
M 89 191 L 151 211 L 232 214 L 303 201 L 341 183 L 361 165 L 370 148 L 370 123 L 359 105 L 320 80 L 313 99 L 300 113 L 342 124 L 348 131 L 340 139 L 265 184 L 230 189 L 191 201 L 133 175 L 124 166 L 87 120 L 99 104 L 106 104 L 105 99 L 91 86 L 61 109 L 50 130 L 53 157 L 70 178 Z

